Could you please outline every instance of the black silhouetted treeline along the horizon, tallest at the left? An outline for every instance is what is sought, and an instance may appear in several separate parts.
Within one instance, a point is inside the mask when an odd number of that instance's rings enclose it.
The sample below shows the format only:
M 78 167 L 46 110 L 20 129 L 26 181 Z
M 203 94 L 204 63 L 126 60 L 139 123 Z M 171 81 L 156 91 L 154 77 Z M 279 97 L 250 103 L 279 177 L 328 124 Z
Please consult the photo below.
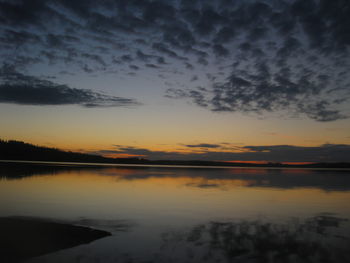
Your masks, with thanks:
M 37 146 L 15 140 L 0 139 L 0 160 L 111 163 L 111 164 L 153 164 L 188 166 L 229 166 L 229 167 L 305 167 L 305 168 L 350 168 L 350 163 L 313 163 L 291 165 L 281 163 L 252 164 L 200 160 L 147 160 L 142 158 L 107 158 L 100 155 L 62 151 L 56 148 Z

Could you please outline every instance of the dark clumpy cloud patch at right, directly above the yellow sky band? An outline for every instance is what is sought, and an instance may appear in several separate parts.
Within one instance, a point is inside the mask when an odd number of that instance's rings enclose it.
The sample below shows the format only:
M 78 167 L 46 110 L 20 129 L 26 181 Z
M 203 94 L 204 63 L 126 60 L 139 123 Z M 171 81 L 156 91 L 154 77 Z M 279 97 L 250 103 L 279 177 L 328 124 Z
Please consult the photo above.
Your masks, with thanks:
M 266 63 L 258 62 L 253 70 L 232 72 L 224 82 L 215 82 L 216 77 L 210 75 L 213 78 L 209 79 L 214 84 L 209 90 L 195 88 L 183 90 L 181 94 L 191 98 L 198 106 L 216 112 L 286 111 L 303 114 L 316 121 L 347 118 L 337 109 L 337 104 L 323 94 L 328 91 L 328 75 L 319 75 L 306 68 L 297 77 L 292 74 L 292 69 L 283 67 L 272 75 Z M 180 94 L 179 91 L 176 93 Z M 342 102 L 348 98 L 344 97 Z

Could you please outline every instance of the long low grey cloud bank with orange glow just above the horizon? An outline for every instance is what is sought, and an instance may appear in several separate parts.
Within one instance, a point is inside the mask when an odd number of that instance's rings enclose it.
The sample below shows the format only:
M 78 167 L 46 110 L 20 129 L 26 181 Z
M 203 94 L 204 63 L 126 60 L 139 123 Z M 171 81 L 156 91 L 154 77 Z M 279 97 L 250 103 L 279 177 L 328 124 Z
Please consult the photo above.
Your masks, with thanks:
M 267 162 L 350 162 L 350 145 L 324 144 L 306 147 L 293 145 L 237 146 L 188 144 L 178 151 L 154 151 L 146 148 L 115 145 L 98 154 L 127 154 L 150 160 L 267 161 Z M 194 149 L 188 151 L 188 149 Z M 198 151 L 199 150 L 199 151 Z

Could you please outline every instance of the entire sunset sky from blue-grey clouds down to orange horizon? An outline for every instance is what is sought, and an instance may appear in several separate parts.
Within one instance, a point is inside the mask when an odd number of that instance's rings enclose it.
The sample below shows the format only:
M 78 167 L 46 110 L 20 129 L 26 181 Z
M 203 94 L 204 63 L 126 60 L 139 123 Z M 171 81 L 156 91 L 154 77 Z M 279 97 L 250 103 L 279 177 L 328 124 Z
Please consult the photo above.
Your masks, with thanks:
M 0 0 L 0 138 L 350 161 L 348 0 Z

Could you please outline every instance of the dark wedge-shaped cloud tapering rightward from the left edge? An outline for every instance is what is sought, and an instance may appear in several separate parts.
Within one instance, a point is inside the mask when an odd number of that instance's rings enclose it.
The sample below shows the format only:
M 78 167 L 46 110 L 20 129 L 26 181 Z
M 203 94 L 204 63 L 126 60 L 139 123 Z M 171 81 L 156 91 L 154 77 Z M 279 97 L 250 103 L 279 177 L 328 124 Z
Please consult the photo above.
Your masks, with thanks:
M 71 88 L 17 72 L 4 65 L 0 69 L 0 103 L 23 105 L 77 104 L 84 107 L 135 106 L 134 99 L 109 96 L 87 89 Z

